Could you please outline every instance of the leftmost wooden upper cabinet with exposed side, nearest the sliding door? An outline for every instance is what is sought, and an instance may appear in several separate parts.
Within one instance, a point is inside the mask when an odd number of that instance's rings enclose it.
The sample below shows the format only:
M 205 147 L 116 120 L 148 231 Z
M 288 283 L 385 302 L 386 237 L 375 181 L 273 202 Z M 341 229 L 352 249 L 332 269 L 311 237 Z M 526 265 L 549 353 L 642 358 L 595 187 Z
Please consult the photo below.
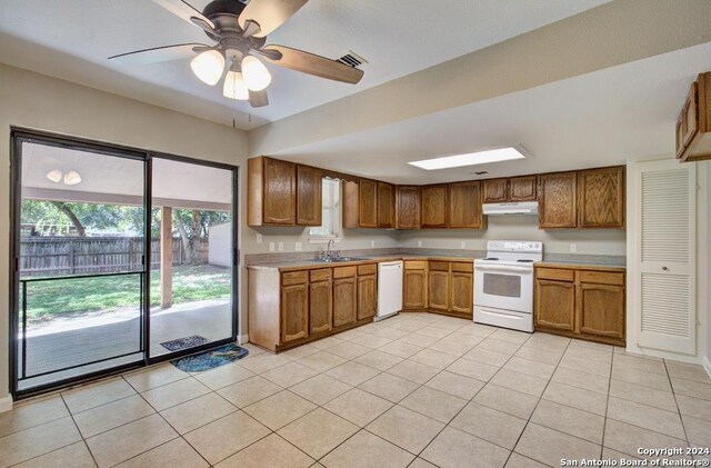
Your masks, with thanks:
M 249 226 L 294 226 L 297 169 L 293 162 L 252 158 L 248 162 Z

